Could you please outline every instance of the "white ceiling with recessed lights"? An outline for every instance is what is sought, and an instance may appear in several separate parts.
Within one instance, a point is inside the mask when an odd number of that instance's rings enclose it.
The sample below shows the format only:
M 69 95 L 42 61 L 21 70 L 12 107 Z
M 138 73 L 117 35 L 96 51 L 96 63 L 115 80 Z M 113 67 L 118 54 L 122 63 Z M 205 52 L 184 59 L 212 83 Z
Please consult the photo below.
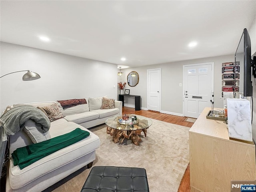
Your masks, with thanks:
M 0 6 L 3 42 L 130 67 L 234 54 L 256 18 L 256 0 L 1 0 Z M 189 48 L 192 41 L 198 46 Z

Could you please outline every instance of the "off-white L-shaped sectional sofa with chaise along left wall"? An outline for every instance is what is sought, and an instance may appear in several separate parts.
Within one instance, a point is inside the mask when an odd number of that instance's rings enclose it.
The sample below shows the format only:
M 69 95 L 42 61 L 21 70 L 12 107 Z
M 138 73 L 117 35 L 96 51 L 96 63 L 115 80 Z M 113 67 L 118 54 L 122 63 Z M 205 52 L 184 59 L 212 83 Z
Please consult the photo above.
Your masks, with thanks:
M 71 132 L 76 128 L 81 128 L 82 130 L 88 131 L 90 136 L 80 142 L 58 150 L 23 169 L 14 166 L 13 160 L 10 158 L 6 178 L 7 192 L 39 192 L 86 165 L 88 167 L 92 166 L 92 162 L 96 159 L 96 149 L 100 146 L 100 140 L 97 135 L 87 128 L 104 124 L 105 120 L 111 116 L 122 115 L 122 102 L 115 101 L 115 108 L 113 109 L 100 109 L 101 98 L 89 98 L 86 101 L 87 104 L 66 110 L 60 107 L 60 110 L 65 116 L 64 118 L 51 122 L 48 132 L 50 138 L 54 138 Z M 54 103 L 57 102 L 38 102 L 26 105 L 43 107 Z M 28 135 L 22 130 L 10 136 L 10 154 L 16 148 L 33 144 Z

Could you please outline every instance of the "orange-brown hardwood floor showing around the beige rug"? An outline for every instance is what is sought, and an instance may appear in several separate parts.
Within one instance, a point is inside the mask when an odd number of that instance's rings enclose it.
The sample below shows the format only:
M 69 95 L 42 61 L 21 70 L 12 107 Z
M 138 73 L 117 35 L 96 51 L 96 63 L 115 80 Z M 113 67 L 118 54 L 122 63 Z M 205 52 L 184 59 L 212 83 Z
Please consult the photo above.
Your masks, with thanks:
M 146 111 L 146 110 L 140 110 L 140 111 L 135 111 L 134 108 L 130 107 L 123 107 L 122 109 L 123 114 L 137 114 L 137 115 L 142 115 L 148 118 L 168 122 L 168 123 L 173 123 L 177 125 L 182 125 L 186 127 L 191 127 L 194 123 L 186 122 L 186 117 L 180 117 L 180 116 L 175 116 L 175 115 L 168 115 L 168 114 L 163 114 L 159 112 L 154 112 L 154 111 Z M 189 165 L 188 168 L 186 169 L 186 172 L 182 178 L 182 181 L 180 183 L 180 188 L 178 192 L 190 192 L 190 172 L 189 172 Z

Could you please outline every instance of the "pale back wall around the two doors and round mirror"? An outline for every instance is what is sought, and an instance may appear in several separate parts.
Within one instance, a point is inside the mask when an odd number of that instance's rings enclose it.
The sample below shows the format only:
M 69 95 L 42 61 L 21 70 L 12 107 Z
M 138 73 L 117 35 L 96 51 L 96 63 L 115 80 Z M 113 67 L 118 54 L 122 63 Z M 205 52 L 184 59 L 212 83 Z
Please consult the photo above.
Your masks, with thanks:
M 234 50 L 235 52 L 235 50 Z M 136 71 L 139 74 L 139 83 L 135 87 L 126 85 L 126 89 L 130 89 L 130 94 L 140 95 L 142 98 L 141 107 L 147 108 L 147 69 L 161 68 L 162 69 L 162 90 L 161 90 L 161 111 L 168 114 L 182 115 L 183 105 L 183 93 L 182 86 L 179 84 L 183 83 L 183 65 L 188 64 L 199 64 L 206 62 L 214 62 L 214 107 L 223 108 L 223 100 L 221 97 L 221 85 L 222 85 L 222 63 L 234 62 L 234 55 L 218 56 L 211 58 L 202 58 L 195 60 L 186 60 L 180 62 L 170 62 L 165 64 L 149 65 L 137 68 L 127 68 L 122 70 L 124 75 L 122 81 L 127 82 L 127 75 L 131 71 Z M 133 99 L 126 99 L 125 105 L 133 105 Z M 209 106 L 210 107 L 210 106 Z

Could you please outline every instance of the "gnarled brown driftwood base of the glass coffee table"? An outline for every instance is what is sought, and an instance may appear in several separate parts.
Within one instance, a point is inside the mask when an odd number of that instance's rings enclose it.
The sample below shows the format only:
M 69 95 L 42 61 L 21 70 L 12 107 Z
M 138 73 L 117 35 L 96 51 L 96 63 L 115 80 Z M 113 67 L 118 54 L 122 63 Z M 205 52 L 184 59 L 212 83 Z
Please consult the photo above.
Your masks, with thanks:
M 110 136 L 113 136 L 114 143 L 118 143 L 120 138 L 123 138 L 120 142 L 120 143 L 123 143 L 124 139 L 126 138 L 126 139 L 131 139 L 132 142 L 138 146 L 142 141 L 140 138 L 141 132 L 143 131 L 146 137 L 147 129 L 148 128 L 144 128 L 140 130 L 119 130 L 119 129 L 114 129 L 107 126 L 107 134 L 110 134 Z

